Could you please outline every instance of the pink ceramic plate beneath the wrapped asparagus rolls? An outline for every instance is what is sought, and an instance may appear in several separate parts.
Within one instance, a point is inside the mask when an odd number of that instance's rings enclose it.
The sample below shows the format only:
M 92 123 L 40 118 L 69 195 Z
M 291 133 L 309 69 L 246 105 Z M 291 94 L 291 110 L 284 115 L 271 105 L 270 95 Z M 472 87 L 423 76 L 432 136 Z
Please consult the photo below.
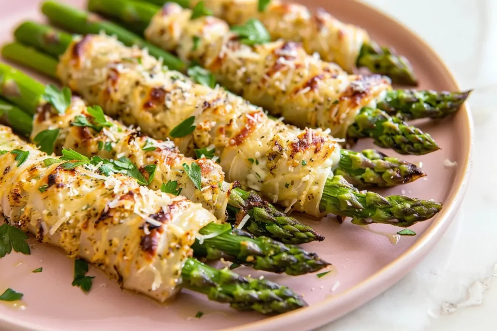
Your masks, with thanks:
M 39 0 L 1 1 L 0 41 L 11 39 L 12 28 L 21 20 L 42 19 Z M 67 1 L 83 7 L 82 0 Z M 323 6 L 339 18 L 366 28 L 381 43 L 393 45 L 413 62 L 420 88 L 456 90 L 458 86 L 434 52 L 412 32 L 391 18 L 362 3 L 348 0 L 307 0 L 306 4 Z M 365 231 L 345 222 L 323 220 L 312 225 L 327 236 L 326 241 L 307 245 L 325 260 L 333 263 L 337 273 L 318 278 L 316 274 L 300 277 L 258 272 L 266 278 L 288 285 L 304 294 L 310 307 L 272 318 L 258 314 L 238 313 L 183 291 L 167 305 L 127 291 L 108 280 L 97 269 L 94 287 L 89 295 L 71 286 L 74 262 L 57 249 L 33 244 L 32 254 L 10 254 L 0 261 L 0 292 L 7 287 L 24 293 L 25 309 L 0 304 L 0 326 L 35 330 L 304 330 L 319 327 L 359 307 L 388 287 L 416 265 L 438 241 L 456 213 L 465 191 L 470 168 L 472 124 L 467 109 L 440 123 L 420 123 L 440 144 L 442 150 L 427 156 L 408 156 L 423 163 L 426 180 L 384 194 L 406 194 L 444 202 L 442 212 L 430 221 L 417 224 L 415 237 L 402 237 L 397 245 L 388 238 Z M 371 146 L 361 142 L 356 149 Z M 392 154 L 392 151 L 388 151 Z M 444 160 L 457 161 L 453 168 Z M 306 221 L 304 219 L 304 221 Z M 375 230 L 395 234 L 399 229 L 376 226 Z M 43 266 L 42 273 L 31 273 Z M 250 272 L 249 269 L 237 269 Z M 252 274 L 254 274 L 252 272 Z M 203 311 L 201 319 L 193 318 Z M 0 328 L 1 329 L 1 328 Z

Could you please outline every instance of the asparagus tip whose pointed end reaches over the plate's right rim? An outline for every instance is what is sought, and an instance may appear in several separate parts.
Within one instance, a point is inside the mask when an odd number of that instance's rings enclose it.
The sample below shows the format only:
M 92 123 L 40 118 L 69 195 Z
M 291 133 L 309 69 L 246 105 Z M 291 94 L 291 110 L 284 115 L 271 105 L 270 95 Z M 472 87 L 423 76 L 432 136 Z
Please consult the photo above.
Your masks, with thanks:
M 377 107 L 388 114 L 401 114 L 404 119 L 441 119 L 454 114 L 466 101 L 470 91 L 435 92 L 393 90 Z

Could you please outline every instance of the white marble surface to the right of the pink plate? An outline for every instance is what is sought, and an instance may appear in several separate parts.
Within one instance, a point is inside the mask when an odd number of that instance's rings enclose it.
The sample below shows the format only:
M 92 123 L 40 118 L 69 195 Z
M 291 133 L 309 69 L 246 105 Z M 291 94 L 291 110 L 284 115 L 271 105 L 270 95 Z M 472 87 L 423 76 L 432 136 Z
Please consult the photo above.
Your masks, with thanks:
M 321 331 L 497 330 L 497 0 L 366 2 L 418 33 L 461 88 L 474 88 L 473 175 L 457 219 L 428 257 Z

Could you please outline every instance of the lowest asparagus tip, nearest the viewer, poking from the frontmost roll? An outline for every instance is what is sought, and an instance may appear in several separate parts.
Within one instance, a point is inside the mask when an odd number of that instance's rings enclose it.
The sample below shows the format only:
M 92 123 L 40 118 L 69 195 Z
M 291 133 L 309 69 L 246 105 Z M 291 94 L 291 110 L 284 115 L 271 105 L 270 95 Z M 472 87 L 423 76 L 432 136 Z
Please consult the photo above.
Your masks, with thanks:
M 218 270 L 195 259 L 188 259 L 183 266 L 181 285 L 241 311 L 254 310 L 271 315 L 307 306 L 301 296 L 286 286 L 242 277 L 228 268 Z

